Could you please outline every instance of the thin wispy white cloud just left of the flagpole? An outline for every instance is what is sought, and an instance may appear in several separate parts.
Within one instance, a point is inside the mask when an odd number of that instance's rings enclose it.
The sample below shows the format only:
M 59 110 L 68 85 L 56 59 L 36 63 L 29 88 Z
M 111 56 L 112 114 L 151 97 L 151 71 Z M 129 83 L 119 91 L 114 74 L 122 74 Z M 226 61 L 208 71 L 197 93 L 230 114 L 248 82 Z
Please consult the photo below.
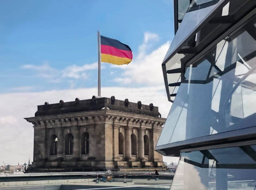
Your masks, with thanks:
M 87 74 L 88 70 L 97 69 L 97 63 L 93 64 L 84 64 L 82 66 L 70 65 L 64 69 L 56 69 L 48 65 L 45 62 L 42 65 L 23 65 L 22 69 L 32 69 L 36 71 L 38 77 L 45 78 L 51 83 L 59 83 L 65 78 L 69 79 L 87 79 L 89 75 Z

